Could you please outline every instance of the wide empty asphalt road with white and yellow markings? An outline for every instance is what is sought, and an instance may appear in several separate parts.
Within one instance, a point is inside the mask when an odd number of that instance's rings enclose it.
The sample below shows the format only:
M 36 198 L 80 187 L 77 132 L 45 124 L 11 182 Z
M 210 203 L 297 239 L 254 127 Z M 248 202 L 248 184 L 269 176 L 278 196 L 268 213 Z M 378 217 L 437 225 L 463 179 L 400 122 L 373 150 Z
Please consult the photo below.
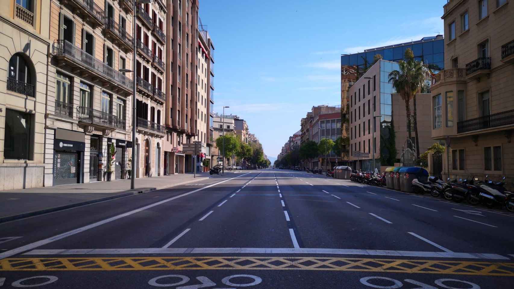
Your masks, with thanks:
M 514 214 L 251 170 L 0 224 L 0 289 L 512 288 Z

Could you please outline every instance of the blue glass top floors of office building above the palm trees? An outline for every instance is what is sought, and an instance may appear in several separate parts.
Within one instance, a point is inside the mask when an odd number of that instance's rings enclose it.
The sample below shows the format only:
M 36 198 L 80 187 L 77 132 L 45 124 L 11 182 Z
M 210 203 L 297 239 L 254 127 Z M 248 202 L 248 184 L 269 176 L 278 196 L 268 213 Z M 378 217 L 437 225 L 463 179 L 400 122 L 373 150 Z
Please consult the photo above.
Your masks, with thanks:
M 412 49 L 415 60 L 429 64 L 430 68 L 434 70 L 444 69 L 445 56 L 443 35 L 423 37 L 418 41 L 366 49 L 361 53 L 341 55 L 341 66 L 348 65 L 364 68 L 367 62 L 368 67 L 370 67 L 373 65 L 373 57 L 375 54 L 382 55 L 383 60 L 398 62 L 403 59 L 407 48 Z

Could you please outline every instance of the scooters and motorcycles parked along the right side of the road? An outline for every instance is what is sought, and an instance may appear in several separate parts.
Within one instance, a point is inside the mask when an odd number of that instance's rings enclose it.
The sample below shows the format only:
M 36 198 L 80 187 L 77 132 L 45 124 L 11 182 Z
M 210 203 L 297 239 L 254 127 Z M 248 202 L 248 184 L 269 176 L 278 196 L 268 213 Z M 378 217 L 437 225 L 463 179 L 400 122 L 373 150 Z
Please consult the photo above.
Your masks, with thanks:
M 385 186 L 386 174 L 353 171 L 350 180 L 363 184 Z M 514 192 L 505 188 L 505 177 L 501 182 L 489 180 L 489 175 L 483 181 L 472 177 L 470 179 L 447 179 L 447 182 L 437 177 L 429 177 L 428 181 L 412 180 L 415 194 L 428 193 L 433 197 L 442 197 L 456 203 L 467 201 L 471 205 L 483 204 L 489 208 L 506 208 L 514 212 Z

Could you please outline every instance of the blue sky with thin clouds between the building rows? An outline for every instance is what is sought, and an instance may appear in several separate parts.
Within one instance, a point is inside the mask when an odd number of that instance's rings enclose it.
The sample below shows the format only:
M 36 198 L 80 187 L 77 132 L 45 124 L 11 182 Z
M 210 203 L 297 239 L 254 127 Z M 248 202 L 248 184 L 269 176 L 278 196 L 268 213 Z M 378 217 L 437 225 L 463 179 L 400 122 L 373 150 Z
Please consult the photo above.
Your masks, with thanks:
M 276 157 L 312 106 L 340 104 L 342 53 L 443 34 L 446 2 L 200 0 L 215 46 L 214 111 L 230 106 Z

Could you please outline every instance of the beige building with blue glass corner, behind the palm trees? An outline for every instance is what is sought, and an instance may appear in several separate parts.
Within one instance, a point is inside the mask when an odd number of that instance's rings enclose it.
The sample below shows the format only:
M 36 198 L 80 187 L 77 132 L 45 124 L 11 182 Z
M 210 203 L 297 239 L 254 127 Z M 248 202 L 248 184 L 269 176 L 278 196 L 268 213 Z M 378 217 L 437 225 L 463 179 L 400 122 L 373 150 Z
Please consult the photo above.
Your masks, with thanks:
M 380 60 L 375 63 L 360 79 L 348 90 L 350 97 L 350 165 L 356 169 L 373 170 L 373 146 L 375 146 L 375 167 L 380 170 L 380 156 L 389 156 L 389 144 L 391 130 L 394 130 L 396 138 L 394 147 L 396 155 L 393 159 L 401 159 L 402 150 L 407 148 L 423 153 L 433 143 L 430 139 L 430 129 L 427 127 L 429 113 L 426 109 L 430 105 L 430 96 L 426 93 L 418 93 L 417 100 L 417 124 L 419 136 L 419 148 L 412 146 L 408 139 L 407 111 L 405 101 L 396 93 L 393 84 L 389 82 L 389 73 L 398 70 L 398 63 Z M 411 101 L 411 113 L 413 113 Z M 412 131 L 412 143 L 415 144 L 414 130 Z M 361 157 L 359 153 L 369 153 L 367 157 Z

